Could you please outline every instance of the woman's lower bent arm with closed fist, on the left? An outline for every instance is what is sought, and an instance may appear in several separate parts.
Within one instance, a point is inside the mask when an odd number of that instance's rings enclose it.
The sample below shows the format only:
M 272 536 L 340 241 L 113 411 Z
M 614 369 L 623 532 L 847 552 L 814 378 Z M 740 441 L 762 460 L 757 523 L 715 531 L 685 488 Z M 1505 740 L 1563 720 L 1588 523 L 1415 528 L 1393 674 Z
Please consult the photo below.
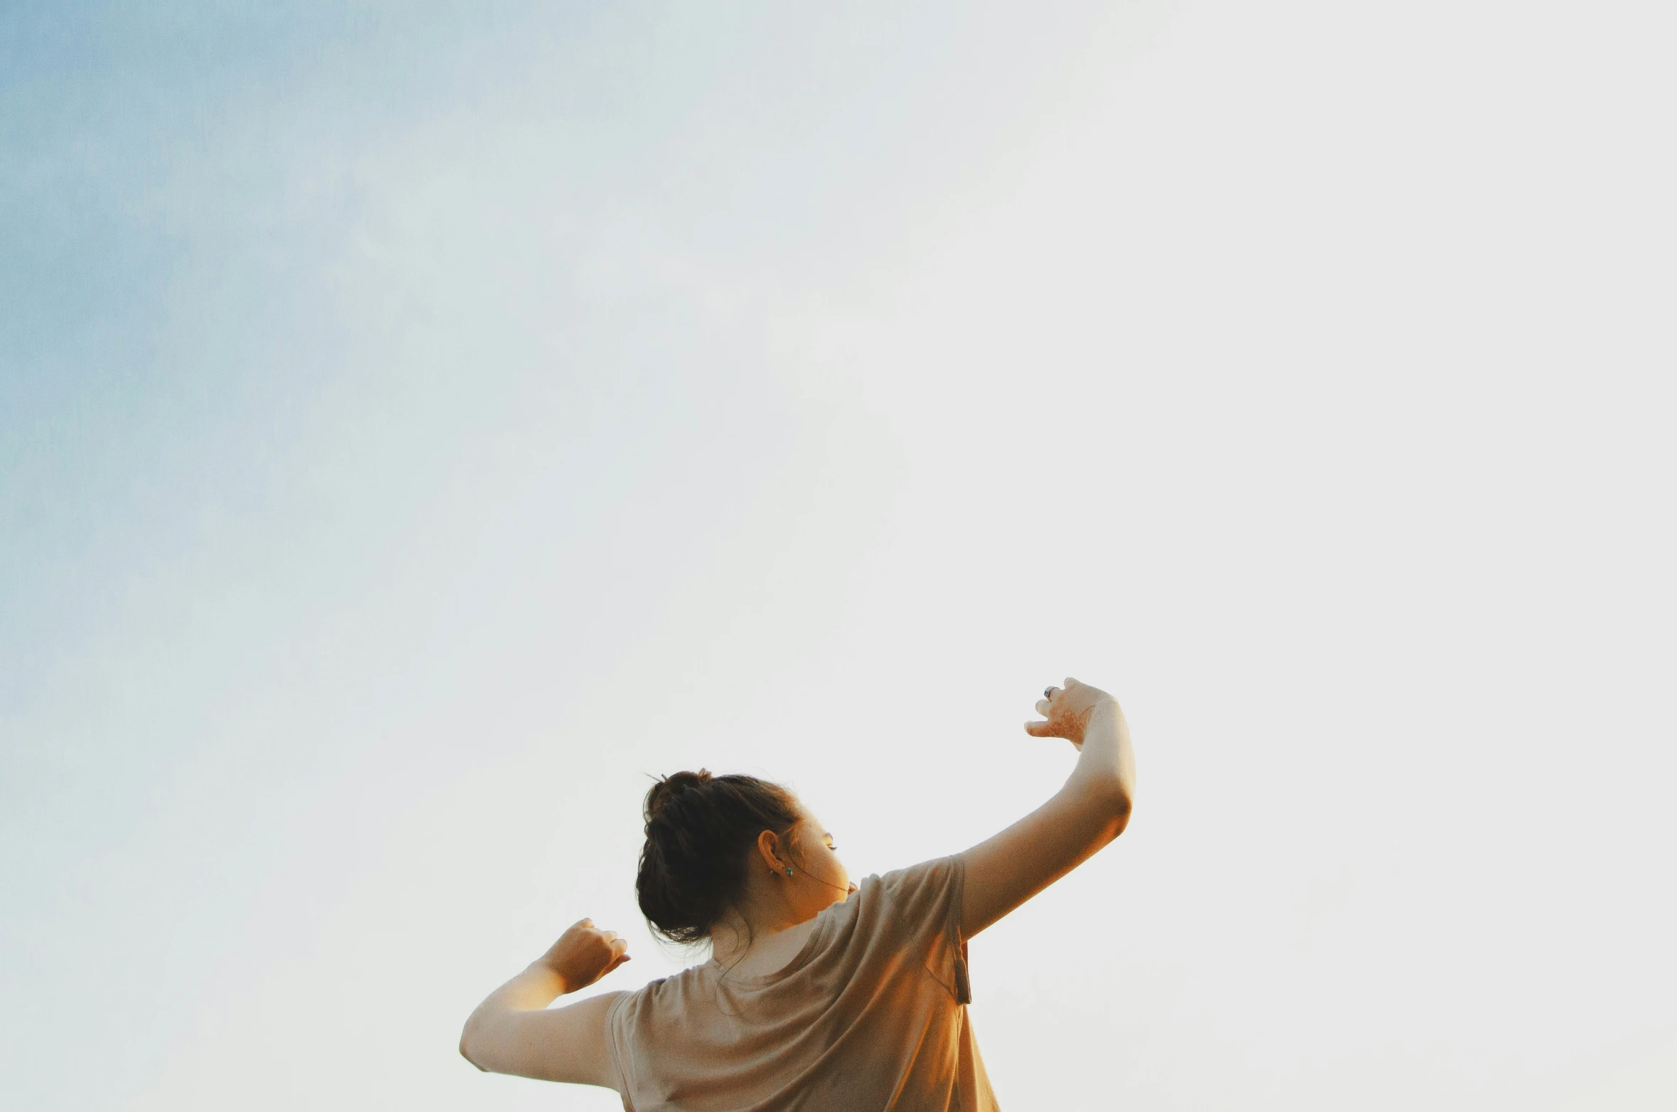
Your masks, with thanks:
M 615 1089 L 605 1010 L 620 993 L 590 996 L 567 1008 L 548 1005 L 626 961 L 629 943 L 582 919 L 478 1005 L 459 1033 L 459 1053 L 490 1073 Z

